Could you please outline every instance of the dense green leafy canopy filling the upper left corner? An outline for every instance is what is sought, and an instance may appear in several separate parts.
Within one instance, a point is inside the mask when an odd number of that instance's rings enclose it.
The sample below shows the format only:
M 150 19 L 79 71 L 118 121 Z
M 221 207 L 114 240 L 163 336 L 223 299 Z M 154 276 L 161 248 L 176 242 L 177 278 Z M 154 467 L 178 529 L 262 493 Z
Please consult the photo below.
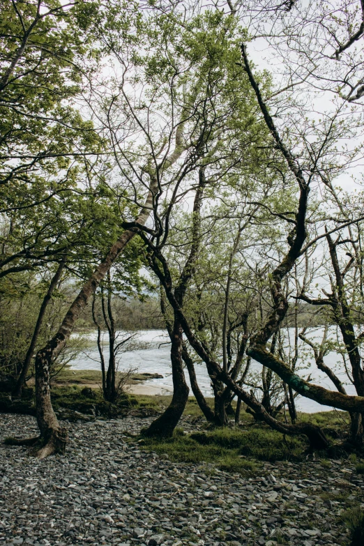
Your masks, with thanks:
M 102 139 L 75 100 L 97 56 L 86 24 L 97 9 L 96 2 L 1 4 L 0 278 L 58 261 L 67 245 L 57 235 L 67 237 L 71 209 L 80 212 L 80 189 L 93 176 Z

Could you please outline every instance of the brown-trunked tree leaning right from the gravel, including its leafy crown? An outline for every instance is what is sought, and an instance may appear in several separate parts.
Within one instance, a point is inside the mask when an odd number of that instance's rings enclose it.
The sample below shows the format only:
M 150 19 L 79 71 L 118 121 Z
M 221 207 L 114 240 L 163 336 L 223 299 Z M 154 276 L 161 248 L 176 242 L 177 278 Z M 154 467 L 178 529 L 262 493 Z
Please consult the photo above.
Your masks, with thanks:
M 180 85 L 179 81 L 175 82 L 174 70 L 172 70 L 172 73 L 169 70 L 160 73 L 159 66 L 157 68 L 153 66 L 153 63 L 158 57 L 155 56 L 156 52 L 153 51 L 153 47 L 156 47 L 155 38 L 152 42 L 152 53 L 149 54 L 150 58 L 147 56 L 146 61 L 140 65 L 138 56 L 135 56 L 133 60 L 135 63 L 134 66 L 144 70 L 146 78 L 151 78 L 150 89 L 142 90 L 143 100 L 150 100 L 150 91 L 152 92 L 151 96 L 153 99 L 155 90 L 161 89 L 162 96 L 163 93 L 164 96 L 166 96 L 165 93 L 168 91 L 167 96 L 169 96 L 170 103 L 172 102 L 172 126 L 170 126 L 169 121 L 167 121 L 165 127 L 162 128 L 162 134 L 164 133 L 162 142 L 164 144 L 158 151 L 153 142 L 155 135 L 149 130 L 149 117 L 146 116 L 146 118 L 143 118 L 137 116 L 137 109 L 139 109 L 141 103 L 139 103 L 139 99 L 134 99 L 135 103 L 132 104 L 132 100 L 128 97 L 126 92 L 128 90 L 126 77 L 130 67 L 126 65 L 127 57 L 126 59 L 121 57 L 121 47 L 125 47 L 127 54 L 128 47 L 130 49 L 132 49 L 132 47 L 138 47 L 138 40 L 142 36 L 141 32 L 143 29 L 138 30 L 138 26 L 136 26 L 134 27 L 138 32 L 136 35 L 133 35 L 131 31 L 126 34 L 124 28 L 125 20 L 123 19 L 123 15 L 125 15 L 126 12 L 125 10 L 118 12 L 116 8 L 120 8 L 119 3 L 110 4 L 109 10 L 107 11 L 109 20 L 106 20 L 105 26 L 103 26 L 102 36 L 99 37 L 103 40 L 104 53 L 106 52 L 109 55 L 113 55 L 114 59 L 120 62 L 120 66 L 123 70 L 123 87 L 121 89 L 123 100 L 118 102 L 112 94 L 111 98 L 107 98 L 105 103 L 105 88 L 103 88 L 103 100 L 99 101 L 100 110 L 97 111 L 95 109 L 94 112 L 100 123 L 104 123 L 105 130 L 109 132 L 110 142 L 112 143 L 112 153 L 114 154 L 114 165 L 115 168 L 118 169 L 116 172 L 119 172 L 122 182 L 127 181 L 129 183 L 128 189 L 133 202 L 128 212 L 123 211 L 123 208 L 121 208 L 120 211 L 123 218 L 124 231 L 119 231 L 117 240 L 109 248 L 106 246 L 103 259 L 82 286 L 75 301 L 70 305 L 59 331 L 43 349 L 38 351 L 36 356 L 36 415 L 40 429 L 40 437 L 43 443 L 43 447 L 38 450 L 38 457 L 45 457 L 56 451 L 63 452 L 67 441 L 66 429 L 59 426 L 50 399 L 50 367 L 52 361 L 56 358 L 57 354 L 59 354 L 59 351 L 61 351 L 68 340 L 80 312 L 85 308 L 86 304 L 89 302 L 89 298 L 97 289 L 98 285 L 100 285 L 100 282 L 105 278 L 105 275 L 107 275 L 107 271 L 109 271 L 116 259 L 121 255 L 121 252 L 126 248 L 129 241 L 135 237 L 135 227 L 144 227 L 146 220 L 149 218 L 149 213 L 153 210 L 153 203 L 160 199 L 163 176 L 167 176 L 166 173 L 168 170 L 171 167 L 174 167 L 174 164 L 181 158 L 182 153 L 190 146 L 190 144 L 186 144 L 183 141 L 183 121 L 187 115 L 185 107 L 182 105 L 180 109 L 181 117 L 177 121 L 174 113 L 176 107 L 175 96 L 174 93 L 172 93 L 172 96 L 169 95 L 169 84 L 172 83 L 173 87 Z M 116 14 L 117 17 L 114 17 Z M 135 17 L 135 22 L 137 25 L 139 24 L 138 16 Z M 130 24 L 132 23 L 130 22 Z M 146 25 L 145 28 L 147 29 L 146 36 L 150 36 L 152 33 L 149 26 Z M 96 30 L 98 32 L 100 31 L 98 25 L 96 25 Z M 128 29 L 128 31 L 129 30 L 130 29 Z M 159 42 L 157 41 L 157 45 L 158 43 Z M 149 73 L 151 68 L 153 71 Z M 158 79 L 159 77 L 161 80 Z M 135 74 L 132 74 L 132 79 L 134 78 Z M 110 82 L 110 85 L 113 84 L 114 82 Z M 151 105 L 153 105 L 153 100 L 151 101 Z M 116 117 L 116 122 L 119 123 L 120 117 L 126 114 L 128 126 L 123 125 L 121 128 L 119 125 L 112 126 L 111 121 L 114 119 L 114 114 L 118 108 L 119 117 Z M 118 131 L 121 131 L 121 136 Z M 129 150 L 126 139 L 130 138 L 130 135 L 137 135 L 138 132 L 144 135 L 144 151 L 142 150 L 142 147 L 139 147 L 139 151 L 134 149 Z M 147 147 L 147 149 L 149 147 L 148 153 L 146 153 L 145 147 Z M 137 155 L 142 155 L 145 159 L 142 167 L 136 169 L 133 162 Z M 179 166 L 179 169 L 172 172 L 172 179 L 174 179 L 174 176 L 177 176 L 182 180 L 183 176 L 190 171 L 193 160 L 194 158 L 187 156 L 182 167 Z M 144 204 L 139 208 L 139 196 L 142 195 L 143 190 L 145 192 L 145 188 L 147 188 L 147 195 L 144 199 Z M 109 190 L 113 191 L 112 188 L 109 188 Z M 125 186 L 121 185 L 121 192 L 117 194 L 117 197 L 119 202 L 128 202 L 129 196 Z M 137 213 L 138 208 L 139 213 Z M 135 214 L 137 214 L 136 218 Z M 130 222 L 130 220 L 133 221 Z M 106 242 L 106 245 L 107 244 L 108 241 Z M 30 439 L 29 441 L 26 441 L 26 443 L 36 443 L 37 441 L 38 439 Z

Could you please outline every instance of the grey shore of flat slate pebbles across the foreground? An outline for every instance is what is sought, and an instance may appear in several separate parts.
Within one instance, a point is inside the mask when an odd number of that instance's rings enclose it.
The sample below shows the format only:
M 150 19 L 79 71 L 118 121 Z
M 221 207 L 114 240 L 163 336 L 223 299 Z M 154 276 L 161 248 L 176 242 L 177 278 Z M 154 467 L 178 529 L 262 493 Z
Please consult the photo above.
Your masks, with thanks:
M 259 475 L 243 478 L 130 443 L 125 432 L 150 421 L 75 423 L 66 455 L 42 461 L 1 444 L 0 545 L 349 543 L 339 516 L 348 500 L 363 503 L 354 465 L 264 463 Z M 1 414 L 0 431 L 1 438 L 31 435 L 36 422 Z

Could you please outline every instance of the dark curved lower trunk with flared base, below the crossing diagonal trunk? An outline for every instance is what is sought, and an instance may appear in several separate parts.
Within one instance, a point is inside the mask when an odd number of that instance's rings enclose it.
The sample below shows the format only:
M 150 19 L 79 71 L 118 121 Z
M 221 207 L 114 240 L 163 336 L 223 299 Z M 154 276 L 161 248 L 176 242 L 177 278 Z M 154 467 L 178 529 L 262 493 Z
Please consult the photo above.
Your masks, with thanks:
M 147 437 L 172 437 L 173 431 L 179 423 L 185 404 L 188 400 L 190 389 L 185 382 L 185 372 L 182 363 L 182 328 L 177 319 L 174 319 L 173 331 L 170 334 L 173 396 L 172 402 L 165 412 L 151 423 L 149 428 L 143 432 Z

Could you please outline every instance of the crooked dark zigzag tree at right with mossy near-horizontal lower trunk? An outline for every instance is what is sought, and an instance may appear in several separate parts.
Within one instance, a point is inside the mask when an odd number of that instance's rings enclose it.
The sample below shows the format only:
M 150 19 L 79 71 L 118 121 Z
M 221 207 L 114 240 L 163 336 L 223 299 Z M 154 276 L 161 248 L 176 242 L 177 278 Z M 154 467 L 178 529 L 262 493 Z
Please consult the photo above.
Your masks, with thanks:
M 287 160 L 287 165 L 289 165 L 289 169 L 291 169 L 291 172 L 294 174 L 296 179 L 298 179 L 298 185 L 300 185 L 300 177 L 302 176 L 302 183 L 304 181 L 304 173 L 307 173 L 308 181 L 312 180 L 313 178 L 317 179 L 318 181 L 324 182 L 325 180 L 330 180 L 330 183 L 332 184 L 332 179 L 335 175 L 342 170 L 342 161 L 347 161 L 347 164 L 352 162 L 354 158 L 356 157 L 356 153 L 358 152 L 358 149 L 352 149 L 347 150 L 347 153 L 342 153 L 341 156 L 336 155 L 336 160 L 333 160 L 333 154 L 336 153 L 335 146 L 333 146 L 333 142 L 338 139 L 340 136 L 341 138 L 348 136 L 351 134 L 352 136 L 358 137 L 360 133 L 356 132 L 356 128 L 358 127 L 356 125 L 356 121 L 358 119 L 358 115 L 360 115 L 360 108 L 356 108 L 352 110 L 351 117 L 350 117 L 350 123 L 345 126 L 345 124 L 342 121 L 339 121 L 342 119 L 342 116 L 344 116 L 345 113 L 349 112 L 349 105 L 348 103 L 351 103 L 351 94 L 349 93 L 349 96 L 344 96 L 341 93 L 341 89 L 339 86 L 338 88 L 335 88 L 333 86 L 333 81 L 340 82 L 340 78 L 342 77 L 342 74 L 347 71 L 347 67 L 350 64 L 351 68 L 354 70 L 354 73 L 357 75 L 360 74 L 360 71 L 362 70 L 362 63 L 360 56 L 358 57 L 356 55 L 356 52 L 354 51 L 354 54 L 351 55 L 349 53 L 345 53 L 343 62 L 338 62 L 336 64 L 337 70 L 334 71 L 334 78 L 330 77 L 328 78 L 326 70 L 330 70 L 330 65 L 332 65 L 331 61 L 340 61 L 340 54 L 343 52 L 349 52 L 349 48 L 356 43 L 356 41 L 361 38 L 363 34 L 363 29 L 360 24 L 358 27 L 358 31 L 356 33 L 352 32 L 352 28 L 354 28 L 354 20 L 358 16 L 358 14 L 361 17 L 361 20 L 363 18 L 363 12 L 362 10 L 357 10 L 355 8 L 356 3 L 341 3 L 340 6 L 335 8 L 335 10 L 327 10 L 327 6 L 324 7 L 324 10 L 326 10 L 326 13 L 324 14 L 326 17 L 326 20 L 328 20 L 328 24 L 324 22 L 324 17 L 319 17 L 318 19 L 315 19 L 313 17 L 312 7 L 310 6 L 309 9 L 305 12 L 301 11 L 298 15 L 294 14 L 291 16 L 291 18 L 288 18 L 288 23 L 285 17 L 281 17 L 281 15 L 275 16 L 274 24 L 280 25 L 280 31 L 282 33 L 279 35 L 278 38 L 278 45 L 276 44 L 275 47 L 277 47 L 278 51 L 280 53 L 285 50 L 285 67 L 289 66 L 289 63 L 292 61 L 292 59 L 295 59 L 296 56 L 296 68 L 295 68 L 295 75 L 296 75 L 296 81 L 292 82 L 283 88 L 282 90 L 278 90 L 276 93 L 273 93 L 273 96 L 278 96 L 280 93 L 286 93 L 286 100 L 287 100 L 287 93 L 291 92 L 291 90 L 294 88 L 294 86 L 306 86 L 306 89 L 318 89 L 319 91 L 330 91 L 332 93 L 337 93 L 340 98 L 342 98 L 342 101 L 335 102 L 333 100 L 331 102 L 331 111 L 329 110 L 327 113 L 324 114 L 324 119 L 319 120 L 319 123 L 311 122 L 311 127 L 314 129 L 314 133 L 317 135 L 316 141 L 312 142 L 312 135 L 311 140 L 308 137 L 310 134 L 309 128 L 307 126 L 306 120 L 304 118 L 303 112 L 305 110 L 301 106 L 301 109 L 299 108 L 299 104 L 297 103 L 295 105 L 294 102 L 291 102 L 293 105 L 292 109 L 290 109 L 291 120 L 294 119 L 294 112 L 296 113 L 295 121 L 298 121 L 298 123 L 301 123 L 301 132 L 297 134 L 296 142 L 294 144 L 296 145 L 297 149 L 299 146 L 301 146 L 301 159 L 298 160 L 297 154 L 292 153 L 291 149 L 288 149 L 285 144 L 283 144 L 282 139 L 280 137 L 280 134 L 275 126 L 275 123 L 270 116 L 268 112 L 268 107 L 266 105 L 266 100 L 262 96 L 261 91 L 259 90 L 259 86 L 257 85 L 257 82 L 255 80 L 254 75 L 252 74 L 252 70 L 250 68 L 250 63 L 248 61 L 248 57 L 246 55 L 245 46 L 242 47 L 242 53 L 243 53 L 243 66 L 245 70 L 247 71 L 250 82 L 252 84 L 252 88 L 255 89 L 255 93 L 257 95 L 257 100 L 259 102 L 259 106 L 261 107 L 261 112 L 264 116 L 264 119 L 267 123 L 267 126 L 270 128 L 271 133 L 273 137 L 275 138 L 275 142 L 278 146 L 278 149 L 282 151 L 282 155 Z M 351 11 L 351 8 L 354 8 L 354 10 Z M 350 24 L 347 25 L 347 20 L 345 20 L 344 23 L 342 23 L 341 20 L 340 24 L 338 25 L 338 28 L 335 29 L 331 33 L 332 25 L 334 21 L 337 21 L 335 19 L 335 13 L 347 13 L 349 16 Z M 310 18 L 312 17 L 312 18 Z M 293 24 L 297 24 L 298 20 L 303 21 L 303 18 L 305 20 L 305 23 L 308 23 L 312 26 L 312 29 L 315 33 L 316 40 L 312 43 L 312 46 L 307 42 L 307 39 L 305 38 L 304 34 L 298 31 L 297 34 L 294 35 L 294 40 L 292 42 L 287 42 L 286 36 L 287 36 L 287 30 L 289 28 L 293 28 Z M 317 22 L 319 21 L 319 22 Z M 299 26 L 298 26 L 299 28 Z M 305 29 L 307 28 L 307 25 L 305 24 Z M 275 29 L 277 30 L 277 28 Z M 343 33 L 342 36 L 345 33 L 349 33 L 349 36 L 347 36 L 347 39 L 343 39 L 342 37 L 338 38 L 340 36 L 340 33 Z M 310 33 L 310 36 L 312 36 L 312 33 Z M 266 38 L 269 39 L 269 33 L 266 33 Z M 311 39 L 311 38 L 310 38 Z M 333 47 L 331 40 L 334 40 L 335 47 Z M 274 38 L 273 38 L 274 41 Z M 289 44 L 289 45 L 288 45 Z M 293 44 L 293 45 L 292 45 Z M 312 49 L 313 47 L 313 49 Z M 315 49 L 316 48 L 316 49 Z M 331 50 L 331 56 L 328 56 L 328 51 Z M 287 54 L 289 53 L 289 54 Z M 315 60 L 314 60 L 314 57 Z M 304 61 L 303 61 L 304 59 Z M 331 61 L 329 61 L 331 59 Z M 312 70 L 312 73 L 310 70 L 307 69 L 309 63 L 316 63 L 316 68 Z M 293 64 L 289 67 L 289 70 L 291 70 Z M 313 66 L 313 64 L 312 64 Z M 317 68 L 319 67 L 319 68 Z M 355 68 L 354 68 L 355 67 Z M 287 69 L 288 70 L 288 69 Z M 303 76 L 303 73 L 305 72 L 305 77 Z M 292 72 L 291 72 L 292 74 Z M 330 87 L 328 87 L 328 82 L 330 80 Z M 342 80 L 343 81 L 343 80 Z M 359 82 L 361 79 L 359 79 Z M 356 82 L 357 84 L 357 82 Z M 353 89 L 356 88 L 356 84 L 353 87 Z M 311 88 L 309 87 L 311 85 Z M 349 81 L 344 82 L 344 85 L 351 85 Z M 301 89 L 302 92 L 302 89 Z M 340 94 L 341 93 L 341 94 Z M 360 94 L 360 93 L 359 93 Z M 284 94 L 282 94 L 282 97 L 285 97 Z M 292 93 L 290 96 L 290 99 L 292 101 Z M 360 98 L 360 97 L 358 97 Z M 268 97 L 269 99 L 269 97 Z M 267 99 L 267 100 L 268 100 Z M 282 103 L 282 98 L 281 104 Z M 355 99 L 357 100 L 357 99 Z M 286 103 L 287 104 L 287 103 Z M 294 110 L 295 109 L 295 110 Z M 292 115 L 293 114 L 293 115 Z M 300 119 L 301 116 L 301 119 Z M 288 121 L 287 117 L 285 117 L 285 121 L 287 121 L 286 128 L 290 125 L 291 122 Z M 321 133 L 319 132 L 321 131 Z M 340 135 L 341 133 L 341 135 Z M 310 140 L 310 142 L 309 142 Z M 303 160 L 304 158 L 304 160 Z M 326 162 L 322 163 L 322 159 L 326 158 Z M 324 182 L 325 183 L 325 182 Z M 301 188 L 301 204 L 304 206 L 304 192 L 303 188 Z M 302 208 L 301 208 L 302 210 Z M 300 208 L 298 208 L 297 213 L 297 222 L 300 214 Z M 306 234 L 305 234 L 305 219 L 302 218 L 303 222 L 301 222 L 301 227 L 299 227 L 301 231 L 301 241 L 298 242 L 297 234 L 298 234 L 298 224 L 296 225 L 296 233 L 294 234 L 295 237 L 291 238 L 290 241 L 290 248 L 289 252 L 287 253 L 285 259 L 281 261 L 280 266 L 275 270 L 273 273 L 273 283 L 272 283 L 272 298 L 273 301 L 275 301 L 275 307 L 274 312 L 269 317 L 268 321 L 264 325 L 264 328 L 261 329 L 261 332 L 255 336 L 255 339 L 252 340 L 252 344 L 250 345 L 250 348 L 248 349 L 248 353 L 250 356 L 253 356 L 257 361 L 260 363 L 266 365 L 267 367 L 270 367 L 271 370 L 275 371 L 280 375 L 284 381 L 287 382 L 287 384 L 298 391 L 298 393 L 311 397 L 313 400 L 316 400 L 323 404 L 329 404 L 334 405 L 335 407 L 340 407 L 341 409 L 347 409 L 349 411 L 361 411 L 363 407 L 363 400 L 361 397 L 350 397 L 347 395 L 344 395 L 343 393 L 333 393 L 329 390 L 320 388 L 318 386 L 314 386 L 312 384 L 309 384 L 308 381 L 303 381 L 301 378 L 299 378 L 292 370 L 289 370 L 287 365 L 280 361 L 278 358 L 273 357 L 271 354 L 268 353 L 265 349 L 265 344 L 268 341 L 269 337 L 273 335 L 274 331 L 278 328 L 278 324 L 282 321 L 282 317 L 285 316 L 287 312 L 287 298 L 282 294 L 282 278 L 287 275 L 289 269 L 291 269 L 296 263 L 296 261 L 300 258 L 301 255 L 304 254 L 305 250 L 310 248 L 310 245 L 313 245 L 321 239 L 322 237 L 326 236 L 331 237 L 331 233 L 338 231 L 340 227 L 347 227 L 351 225 L 354 220 L 349 220 L 348 222 L 340 222 L 340 220 L 336 220 L 336 218 L 331 218 L 331 221 L 334 222 L 335 227 L 331 229 L 327 229 L 326 235 L 325 234 L 319 234 L 316 238 L 314 238 L 309 243 L 306 243 L 305 247 L 303 247 L 303 242 L 305 241 Z M 340 226 L 341 223 L 341 226 Z M 294 245 L 297 245 L 296 248 Z M 298 247 L 301 247 L 301 250 L 298 250 Z M 341 274 L 341 273 L 340 273 Z M 283 276 L 282 276 L 283 275 Z

